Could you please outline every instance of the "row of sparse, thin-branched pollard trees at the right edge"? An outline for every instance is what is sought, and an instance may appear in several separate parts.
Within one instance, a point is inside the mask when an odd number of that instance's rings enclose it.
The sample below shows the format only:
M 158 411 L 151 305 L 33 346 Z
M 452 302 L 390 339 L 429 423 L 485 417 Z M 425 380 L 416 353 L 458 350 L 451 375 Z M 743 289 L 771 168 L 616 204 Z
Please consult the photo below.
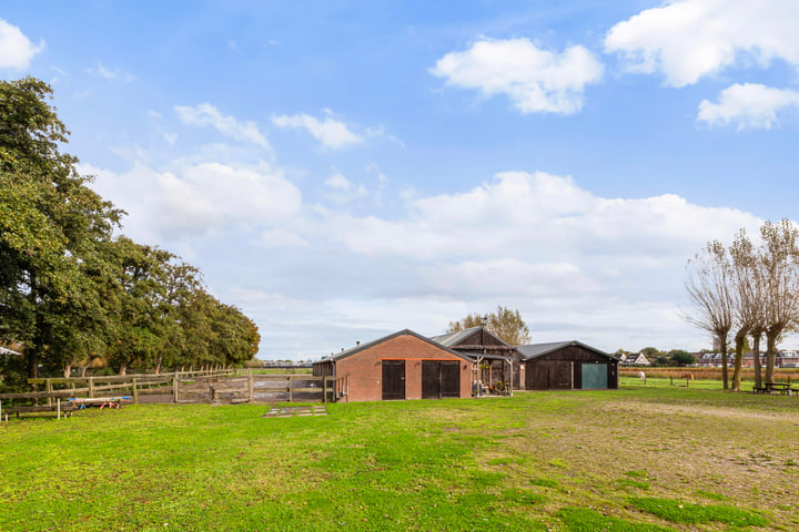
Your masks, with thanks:
M 688 262 L 685 286 L 692 310 L 686 319 L 718 340 L 725 389 L 740 389 L 748 338 L 755 386 L 773 382 L 777 345 L 799 325 L 799 229 L 788 219 L 766 222 L 758 236 L 752 241 L 740 229 L 728 247 L 710 242 Z M 763 337 L 765 368 L 760 361 Z M 731 385 L 730 340 L 735 348 Z

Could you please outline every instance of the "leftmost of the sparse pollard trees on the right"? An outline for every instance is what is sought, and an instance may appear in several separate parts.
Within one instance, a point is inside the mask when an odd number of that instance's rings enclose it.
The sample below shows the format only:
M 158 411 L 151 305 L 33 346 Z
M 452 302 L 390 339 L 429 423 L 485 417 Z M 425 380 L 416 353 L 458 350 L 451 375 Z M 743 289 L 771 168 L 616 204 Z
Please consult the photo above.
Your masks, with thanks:
M 721 347 L 721 378 L 724 389 L 729 389 L 727 364 L 727 337 L 732 328 L 734 300 L 730 293 L 730 260 L 724 246 L 718 242 L 707 247 L 688 262 L 686 290 L 694 305 L 694 313 L 685 318 L 714 334 Z

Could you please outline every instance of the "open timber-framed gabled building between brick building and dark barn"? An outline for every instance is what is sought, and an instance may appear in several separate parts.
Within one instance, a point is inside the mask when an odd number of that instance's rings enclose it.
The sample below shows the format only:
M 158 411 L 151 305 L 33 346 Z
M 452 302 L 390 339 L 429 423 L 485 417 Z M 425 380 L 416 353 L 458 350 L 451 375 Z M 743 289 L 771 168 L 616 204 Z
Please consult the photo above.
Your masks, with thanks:
M 434 336 L 431 340 L 473 358 L 475 372 L 472 379 L 483 387 L 518 390 L 524 385 L 524 379 L 519 378 L 519 352 L 485 327 Z

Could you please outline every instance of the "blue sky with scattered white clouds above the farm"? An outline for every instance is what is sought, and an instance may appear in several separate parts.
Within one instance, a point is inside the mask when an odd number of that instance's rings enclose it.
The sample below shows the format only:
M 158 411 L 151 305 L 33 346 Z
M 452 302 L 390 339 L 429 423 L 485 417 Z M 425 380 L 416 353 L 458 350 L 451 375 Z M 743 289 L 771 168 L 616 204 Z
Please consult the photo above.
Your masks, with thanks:
M 799 2 L 2 1 L 26 75 L 262 359 L 499 305 L 532 342 L 710 348 L 687 260 L 799 200 Z

